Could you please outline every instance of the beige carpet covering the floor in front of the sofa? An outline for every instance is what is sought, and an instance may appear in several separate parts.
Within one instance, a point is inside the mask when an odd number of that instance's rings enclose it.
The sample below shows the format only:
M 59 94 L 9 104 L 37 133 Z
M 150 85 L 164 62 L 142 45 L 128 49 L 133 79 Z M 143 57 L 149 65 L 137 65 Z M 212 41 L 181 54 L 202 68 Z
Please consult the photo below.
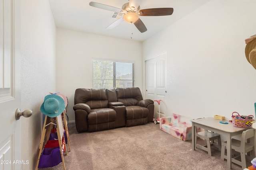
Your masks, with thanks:
M 77 133 L 68 124 L 71 152 L 64 155 L 66 170 L 226 170 L 220 151 L 192 150 L 192 141 L 181 141 L 148 123 L 93 133 Z M 248 164 L 250 166 L 251 164 Z M 40 170 L 62 170 L 62 163 Z M 233 170 L 241 166 L 232 164 Z

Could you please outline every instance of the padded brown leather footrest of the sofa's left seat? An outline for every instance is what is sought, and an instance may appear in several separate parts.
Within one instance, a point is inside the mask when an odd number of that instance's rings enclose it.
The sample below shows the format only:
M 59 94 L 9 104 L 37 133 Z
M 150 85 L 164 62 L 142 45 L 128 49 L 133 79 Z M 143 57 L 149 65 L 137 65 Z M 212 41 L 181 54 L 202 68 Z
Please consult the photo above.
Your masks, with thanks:
M 110 108 L 91 109 L 88 114 L 88 125 L 116 121 L 116 111 Z

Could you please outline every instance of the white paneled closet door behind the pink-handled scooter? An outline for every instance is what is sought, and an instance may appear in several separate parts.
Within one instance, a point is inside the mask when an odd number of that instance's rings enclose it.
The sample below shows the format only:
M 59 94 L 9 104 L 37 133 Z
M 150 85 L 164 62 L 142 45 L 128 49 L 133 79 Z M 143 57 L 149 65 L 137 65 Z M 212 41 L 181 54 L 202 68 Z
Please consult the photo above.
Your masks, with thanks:
M 166 113 L 166 59 L 167 54 L 161 53 L 146 61 L 146 98 L 151 100 L 162 100 L 160 102 L 160 117 Z M 154 117 L 158 118 L 159 105 L 154 102 Z

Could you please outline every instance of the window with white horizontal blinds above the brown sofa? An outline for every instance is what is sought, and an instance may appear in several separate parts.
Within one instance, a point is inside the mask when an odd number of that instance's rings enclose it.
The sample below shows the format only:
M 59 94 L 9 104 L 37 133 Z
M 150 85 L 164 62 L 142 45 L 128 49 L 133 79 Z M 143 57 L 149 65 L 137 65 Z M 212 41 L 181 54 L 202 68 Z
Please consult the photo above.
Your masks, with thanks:
M 93 88 L 134 87 L 134 63 L 92 61 Z

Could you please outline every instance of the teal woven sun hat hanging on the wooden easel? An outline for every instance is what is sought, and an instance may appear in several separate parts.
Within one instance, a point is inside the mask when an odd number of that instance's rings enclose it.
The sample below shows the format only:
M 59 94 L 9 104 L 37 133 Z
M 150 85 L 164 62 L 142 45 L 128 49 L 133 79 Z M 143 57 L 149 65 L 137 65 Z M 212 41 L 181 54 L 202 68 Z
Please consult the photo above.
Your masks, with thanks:
M 56 94 L 49 94 L 44 97 L 44 102 L 40 107 L 40 111 L 49 116 L 57 117 L 63 113 L 65 109 L 65 102 L 62 97 Z

